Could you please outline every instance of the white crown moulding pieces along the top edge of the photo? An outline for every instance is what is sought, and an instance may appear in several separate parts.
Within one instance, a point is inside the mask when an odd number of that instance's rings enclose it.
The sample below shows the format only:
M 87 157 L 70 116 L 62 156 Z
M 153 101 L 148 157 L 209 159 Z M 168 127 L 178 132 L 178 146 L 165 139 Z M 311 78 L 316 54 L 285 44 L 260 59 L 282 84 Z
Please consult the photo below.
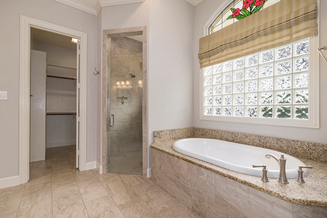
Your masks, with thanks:
M 71 7 L 98 15 L 102 7 L 144 2 L 144 0 L 55 0 Z M 185 0 L 196 6 L 203 0 Z

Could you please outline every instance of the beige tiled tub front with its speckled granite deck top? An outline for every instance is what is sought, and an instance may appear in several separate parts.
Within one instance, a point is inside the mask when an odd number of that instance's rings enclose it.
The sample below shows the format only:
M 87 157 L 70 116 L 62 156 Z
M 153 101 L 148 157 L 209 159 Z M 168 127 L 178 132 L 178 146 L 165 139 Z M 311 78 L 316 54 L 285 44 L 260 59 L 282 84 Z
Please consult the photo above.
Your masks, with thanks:
M 312 165 L 306 183 L 240 174 L 172 150 L 175 140 L 155 142 L 152 179 L 202 217 L 327 217 L 327 164 Z M 223 208 L 220 209 L 220 208 Z M 258 209 L 260 208 L 260 209 Z

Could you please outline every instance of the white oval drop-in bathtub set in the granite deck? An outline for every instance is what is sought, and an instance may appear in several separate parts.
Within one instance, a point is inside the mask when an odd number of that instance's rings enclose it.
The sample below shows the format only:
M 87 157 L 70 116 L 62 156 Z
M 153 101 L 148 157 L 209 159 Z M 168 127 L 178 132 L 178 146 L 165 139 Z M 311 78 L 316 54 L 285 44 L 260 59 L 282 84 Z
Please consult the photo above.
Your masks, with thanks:
M 273 154 L 277 158 L 284 155 L 286 160 L 287 178 L 297 178 L 298 165 L 305 166 L 299 159 L 270 149 L 248 146 L 234 142 L 207 138 L 186 138 L 174 142 L 173 150 L 176 152 L 252 176 L 262 176 L 262 168 L 253 168 L 252 165 L 267 165 L 269 178 L 278 178 L 279 165 L 273 158 L 266 158 L 266 154 Z M 303 176 L 309 174 L 303 168 Z

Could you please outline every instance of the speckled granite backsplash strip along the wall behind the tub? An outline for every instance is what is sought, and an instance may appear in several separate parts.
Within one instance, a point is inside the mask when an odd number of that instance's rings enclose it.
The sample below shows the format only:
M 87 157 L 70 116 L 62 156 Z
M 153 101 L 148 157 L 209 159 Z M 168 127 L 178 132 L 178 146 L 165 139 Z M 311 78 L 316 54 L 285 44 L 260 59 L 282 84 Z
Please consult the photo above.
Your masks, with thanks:
M 297 158 L 327 162 L 327 144 L 195 127 L 154 131 L 154 142 L 189 137 L 212 138 L 248 144 L 250 146 L 283 152 Z

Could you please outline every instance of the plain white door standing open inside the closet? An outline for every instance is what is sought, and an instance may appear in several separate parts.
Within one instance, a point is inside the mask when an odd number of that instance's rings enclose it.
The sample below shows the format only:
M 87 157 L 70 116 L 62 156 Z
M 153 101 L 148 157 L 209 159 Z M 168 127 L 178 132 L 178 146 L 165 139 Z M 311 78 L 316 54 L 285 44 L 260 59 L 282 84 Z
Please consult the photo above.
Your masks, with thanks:
M 45 160 L 46 53 L 31 50 L 30 162 Z

